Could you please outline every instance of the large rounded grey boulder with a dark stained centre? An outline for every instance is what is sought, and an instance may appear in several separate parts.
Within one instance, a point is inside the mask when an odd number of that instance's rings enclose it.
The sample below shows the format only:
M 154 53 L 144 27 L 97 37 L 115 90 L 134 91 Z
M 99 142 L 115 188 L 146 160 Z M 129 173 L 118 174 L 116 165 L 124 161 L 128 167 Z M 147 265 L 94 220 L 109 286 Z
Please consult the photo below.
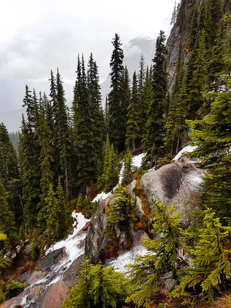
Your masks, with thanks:
M 141 178 L 147 200 L 159 200 L 172 205 L 176 203 L 177 212 L 183 217 L 181 223 L 187 227 L 189 214 L 199 206 L 203 170 L 196 168 L 195 162 L 182 158 L 153 171 L 149 170 Z

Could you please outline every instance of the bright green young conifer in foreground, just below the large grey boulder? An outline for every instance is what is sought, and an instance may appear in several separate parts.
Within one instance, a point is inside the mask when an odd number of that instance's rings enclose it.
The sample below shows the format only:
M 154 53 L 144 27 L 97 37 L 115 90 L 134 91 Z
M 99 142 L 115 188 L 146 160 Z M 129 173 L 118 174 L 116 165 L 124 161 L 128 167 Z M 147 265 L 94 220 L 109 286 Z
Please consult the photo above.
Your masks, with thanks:
M 180 249 L 185 248 L 181 239 L 185 232 L 179 223 L 181 215 L 173 215 L 176 206 L 167 209 L 167 204 L 158 201 L 152 205 L 155 217 L 152 232 L 159 237 L 156 240 L 143 239 L 149 253 L 126 266 L 132 285 L 132 295 L 127 301 L 138 302 L 139 307 L 150 307 L 151 294 L 158 291 L 159 282 L 169 273 L 172 274 L 169 279 L 177 281 L 180 264 L 186 262 L 179 255 Z

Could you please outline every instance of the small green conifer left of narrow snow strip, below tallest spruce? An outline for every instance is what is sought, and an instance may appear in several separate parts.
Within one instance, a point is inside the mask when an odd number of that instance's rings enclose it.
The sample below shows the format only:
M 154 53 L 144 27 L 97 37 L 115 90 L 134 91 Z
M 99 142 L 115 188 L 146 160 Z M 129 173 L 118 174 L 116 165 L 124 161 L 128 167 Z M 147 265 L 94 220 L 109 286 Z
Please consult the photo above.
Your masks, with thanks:
M 114 152 L 113 144 L 111 144 L 110 155 L 108 158 L 108 167 L 105 174 L 105 187 L 104 191 L 112 191 L 115 185 L 119 182 L 119 171 L 118 171 L 118 162 L 117 156 Z

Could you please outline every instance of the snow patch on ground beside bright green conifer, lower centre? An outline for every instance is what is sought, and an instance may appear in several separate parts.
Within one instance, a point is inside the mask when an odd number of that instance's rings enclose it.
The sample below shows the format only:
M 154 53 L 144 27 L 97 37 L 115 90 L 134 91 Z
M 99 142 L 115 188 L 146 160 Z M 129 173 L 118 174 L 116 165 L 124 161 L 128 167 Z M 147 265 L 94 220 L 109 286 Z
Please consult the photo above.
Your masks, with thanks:
M 126 273 L 127 269 L 124 268 L 124 266 L 128 264 L 134 264 L 134 258 L 144 256 L 147 254 L 147 252 L 147 249 L 142 245 L 133 247 L 130 251 L 111 261 L 109 266 L 114 266 L 115 271 L 119 273 Z

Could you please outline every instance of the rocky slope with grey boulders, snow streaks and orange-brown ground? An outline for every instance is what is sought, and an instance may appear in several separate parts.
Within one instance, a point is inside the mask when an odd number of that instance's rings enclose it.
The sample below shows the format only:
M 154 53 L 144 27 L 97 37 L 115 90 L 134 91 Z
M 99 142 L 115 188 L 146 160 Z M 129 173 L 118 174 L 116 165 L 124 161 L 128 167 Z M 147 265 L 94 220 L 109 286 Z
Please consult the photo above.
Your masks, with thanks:
M 121 238 L 117 247 L 113 247 L 106 235 L 102 235 L 107 219 L 105 208 L 110 206 L 113 195 L 99 195 L 98 199 L 104 197 L 100 199 L 97 213 L 91 221 L 82 214 L 73 212 L 73 234 L 49 248 L 47 256 L 38 262 L 34 271 L 17 277 L 20 281 L 26 281 L 28 287 L 17 297 L 6 301 L 3 307 L 60 308 L 68 288 L 78 279 L 76 275 L 79 274 L 81 262 L 86 255 L 93 263 L 102 260 L 106 265 L 125 272 L 124 265 L 132 263 L 134 257 L 147 252 L 142 239 L 152 236 L 152 200 L 170 205 L 176 203 L 177 211 L 183 215 L 182 225 L 187 227 L 190 222 L 189 214 L 199 206 L 203 171 L 196 167 L 197 160 L 179 156 L 171 164 L 158 170 L 150 169 L 142 177 L 138 176 L 127 187 L 129 194 L 136 198 L 137 215 L 129 243 Z M 141 165 L 141 158 L 142 155 L 135 159 L 137 167 Z

